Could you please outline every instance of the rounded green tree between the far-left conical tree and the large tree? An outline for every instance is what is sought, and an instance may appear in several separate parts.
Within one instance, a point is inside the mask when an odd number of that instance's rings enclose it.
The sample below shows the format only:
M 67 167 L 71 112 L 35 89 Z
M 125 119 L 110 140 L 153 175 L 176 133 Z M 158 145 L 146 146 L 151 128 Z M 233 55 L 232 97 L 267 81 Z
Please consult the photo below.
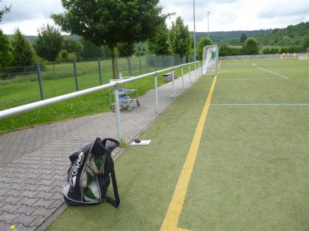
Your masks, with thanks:
M 59 29 L 50 26 L 41 27 L 37 39 L 34 41 L 34 50 L 39 57 L 49 62 L 55 62 L 63 45 L 63 36 Z

